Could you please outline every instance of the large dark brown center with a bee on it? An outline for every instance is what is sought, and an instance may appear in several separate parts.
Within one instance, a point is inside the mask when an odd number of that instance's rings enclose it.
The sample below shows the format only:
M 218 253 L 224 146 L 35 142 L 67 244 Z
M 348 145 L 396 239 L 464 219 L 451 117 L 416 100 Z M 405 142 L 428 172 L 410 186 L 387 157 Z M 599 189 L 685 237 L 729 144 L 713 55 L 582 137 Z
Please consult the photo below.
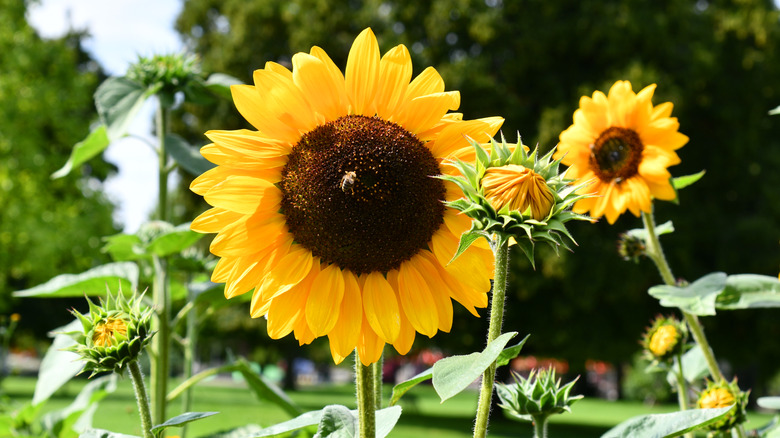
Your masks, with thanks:
M 397 269 L 443 224 L 438 161 L 395 123 L 344 116 L 304 134 L 282 170 L 295 241 L 362 274 Z

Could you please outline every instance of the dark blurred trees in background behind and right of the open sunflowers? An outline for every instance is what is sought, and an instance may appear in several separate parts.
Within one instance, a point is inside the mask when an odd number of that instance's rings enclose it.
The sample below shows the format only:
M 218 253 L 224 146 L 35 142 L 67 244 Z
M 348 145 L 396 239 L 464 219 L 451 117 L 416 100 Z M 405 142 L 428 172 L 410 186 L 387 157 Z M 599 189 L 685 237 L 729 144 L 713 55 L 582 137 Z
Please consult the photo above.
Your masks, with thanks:
M 355 37 L 371 26 L 382 51 L 406 44 L 416 71 L 435 66 L 460 90 L 466 118 L 502 115 L 504 133 L 550 148 L 572 120 L 579 97 L 606 92 L 618 79 L 635 91 L 657 83 L 654 102 L 675 103 L 681 132 L 675 175 L 707 170 L 681 192 L 681 205 L 659 203 L 659 222 L 676 275 L 710 271 L 777 273 L 780 228 L 780 28 L 771 0 L 187 0 L 177 21 L 207 71 L 251 82 L 266 61 L 289 63 L 297 51 L 323 47 L 344 66 Z M 192 111 L 191 136 L 208 129 L 248 127 L 231 104 Z M 772 170 L 775 169 L 775 170 Z M 201 207 L 202 208 L 202 207 Z M 561 258 L 541 253 L 534 272 L 515 258 L 506 330 L 532 333 L 528 351 L 629 360 L 655 313 L 646 294 L 661 283 L 652 264 L 628 264 L 615 241 L 641 221 L 627 214 L 615 226 L 578 224 L 580 243 Z M 704 322 L 719 356 L 737 365 L 780 351 L 761 338 L 780 336 L 771 311 L 723 313 Z M 776 312 L 776 311 L 774 311 Z M 776 314 L 776 313 L 775 313 Z M 481 324 L 456 319 L 449 346 L 481 345 Z M 464 335 L 465 333 L 465 335 Z M 753 339 L 754 341 L 746 341 Z M 760 372 L 769 375 L 772 369 Z

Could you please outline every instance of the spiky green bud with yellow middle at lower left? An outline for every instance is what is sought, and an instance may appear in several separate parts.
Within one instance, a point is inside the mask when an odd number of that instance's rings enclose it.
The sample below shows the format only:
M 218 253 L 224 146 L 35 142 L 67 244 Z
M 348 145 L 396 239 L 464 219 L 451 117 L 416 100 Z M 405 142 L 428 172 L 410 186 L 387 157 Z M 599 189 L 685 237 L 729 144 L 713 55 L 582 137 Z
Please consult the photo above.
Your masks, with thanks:
M 116 297 L 109 292 L 105 301 L 95 305 L 89 298 L 89 313 L 71 310 L 83 330 L 68 333 L 77 344 L 69 348 L 86 362 L 82 372 L 90 377 L 103 372 L 122 373 L 126 365 L 138 359 L 153 333 L 149 332 L 152 309 L 140 308 L 141 297 L 129 300 L 120 290 Z

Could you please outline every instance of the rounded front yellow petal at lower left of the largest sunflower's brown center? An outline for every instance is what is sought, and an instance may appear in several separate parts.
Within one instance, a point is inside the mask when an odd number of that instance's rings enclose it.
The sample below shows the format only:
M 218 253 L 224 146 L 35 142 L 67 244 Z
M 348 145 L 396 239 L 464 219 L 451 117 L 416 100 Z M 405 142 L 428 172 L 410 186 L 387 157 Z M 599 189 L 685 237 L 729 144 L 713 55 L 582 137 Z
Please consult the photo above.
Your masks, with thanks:
M 336 265 L 328 265 L 314 278 L 306 302 L 306 322 L 314 336 L 330 332 L 339 319 L 344 298 L 344 276 Z

